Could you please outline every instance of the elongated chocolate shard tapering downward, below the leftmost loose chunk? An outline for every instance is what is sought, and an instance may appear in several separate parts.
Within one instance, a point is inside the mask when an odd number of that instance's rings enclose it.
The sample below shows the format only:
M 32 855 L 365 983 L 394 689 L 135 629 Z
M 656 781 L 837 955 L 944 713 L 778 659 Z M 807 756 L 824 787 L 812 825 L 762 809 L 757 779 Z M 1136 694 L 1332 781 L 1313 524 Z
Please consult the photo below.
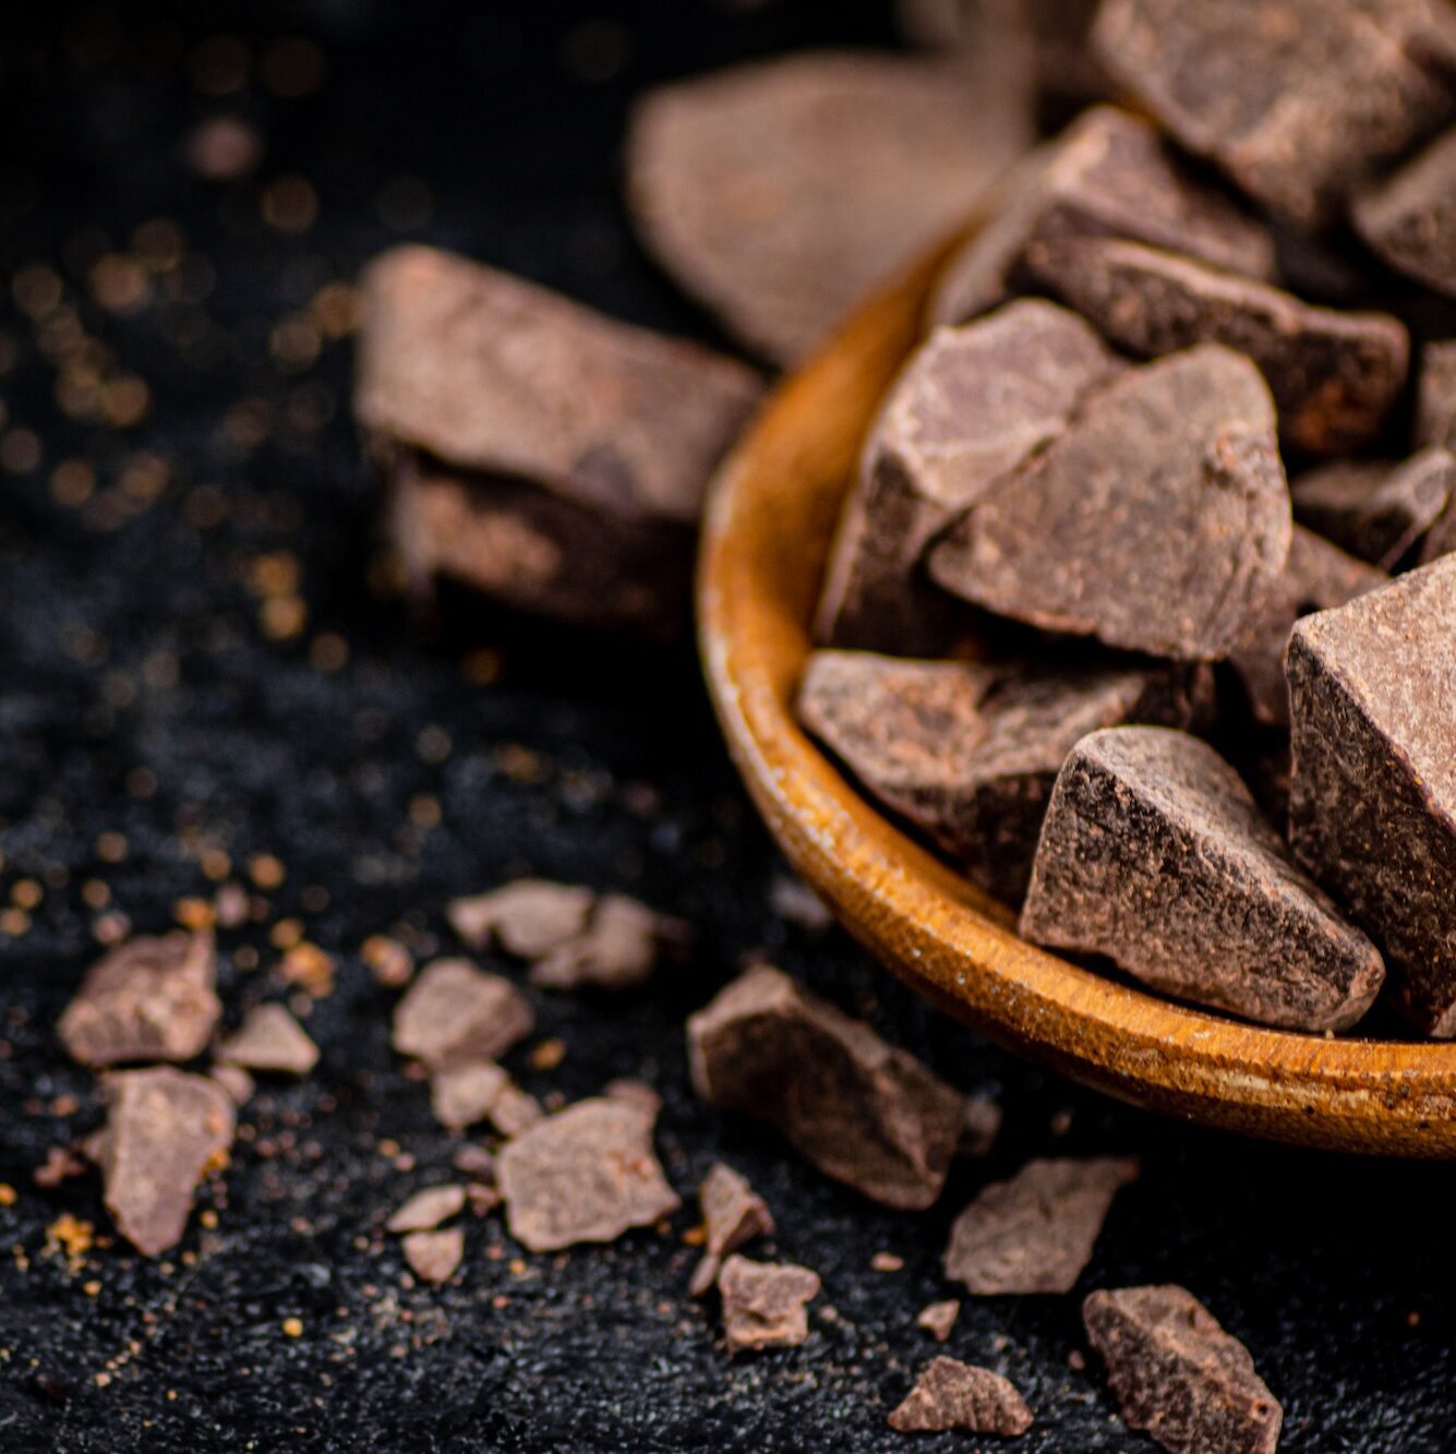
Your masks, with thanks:
M 169 1067 L 114 1071 L 102 1084 L 106 1208 L 127 1242 L 154 1258 L 182 1240 L 202 1177 L 227 1166 L 233 1102 L 205 1076 Z

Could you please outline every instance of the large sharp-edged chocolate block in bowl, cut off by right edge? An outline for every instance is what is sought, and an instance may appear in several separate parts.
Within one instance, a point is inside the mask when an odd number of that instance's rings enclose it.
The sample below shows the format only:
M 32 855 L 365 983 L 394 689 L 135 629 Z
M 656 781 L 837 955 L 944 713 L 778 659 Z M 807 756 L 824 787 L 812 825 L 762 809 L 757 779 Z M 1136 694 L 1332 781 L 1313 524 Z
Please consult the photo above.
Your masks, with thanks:
M 1396 576 L 1289 642 L 1296 857 L 1385 949 L 1398 998 L 1456 1035 L 1456 556 Z

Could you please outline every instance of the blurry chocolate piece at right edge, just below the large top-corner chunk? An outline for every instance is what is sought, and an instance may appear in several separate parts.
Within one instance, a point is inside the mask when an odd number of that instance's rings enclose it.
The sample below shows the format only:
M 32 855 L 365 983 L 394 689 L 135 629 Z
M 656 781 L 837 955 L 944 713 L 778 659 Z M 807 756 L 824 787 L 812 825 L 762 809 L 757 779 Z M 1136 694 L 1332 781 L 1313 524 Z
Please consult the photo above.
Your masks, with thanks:
M 1456 297 L 1456 128 L 1361 196 L 1351 215 L 1392 268 Z

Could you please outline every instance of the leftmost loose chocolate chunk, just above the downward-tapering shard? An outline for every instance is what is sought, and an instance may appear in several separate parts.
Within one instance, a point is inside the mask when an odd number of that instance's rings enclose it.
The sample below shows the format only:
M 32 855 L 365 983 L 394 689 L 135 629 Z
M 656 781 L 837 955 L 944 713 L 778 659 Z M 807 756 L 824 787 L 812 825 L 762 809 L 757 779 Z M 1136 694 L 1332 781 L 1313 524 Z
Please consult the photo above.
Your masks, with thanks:
M 199 1055 L 223 1013 L 211 934 L 138 937 L 86 972 L 57 1030 L 83 1065 Z

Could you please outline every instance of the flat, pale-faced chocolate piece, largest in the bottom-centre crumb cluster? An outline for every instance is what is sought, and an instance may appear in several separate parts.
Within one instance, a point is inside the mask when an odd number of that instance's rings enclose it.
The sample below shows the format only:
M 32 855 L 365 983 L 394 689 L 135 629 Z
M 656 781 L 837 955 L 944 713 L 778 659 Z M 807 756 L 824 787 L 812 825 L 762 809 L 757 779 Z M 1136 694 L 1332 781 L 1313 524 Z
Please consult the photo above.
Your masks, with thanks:
M 511 1236 L 531 1252 L 616 1242 L 677 1211 L 638 1106 L 578 1100 L 508 1141 L 496 1160 Z

